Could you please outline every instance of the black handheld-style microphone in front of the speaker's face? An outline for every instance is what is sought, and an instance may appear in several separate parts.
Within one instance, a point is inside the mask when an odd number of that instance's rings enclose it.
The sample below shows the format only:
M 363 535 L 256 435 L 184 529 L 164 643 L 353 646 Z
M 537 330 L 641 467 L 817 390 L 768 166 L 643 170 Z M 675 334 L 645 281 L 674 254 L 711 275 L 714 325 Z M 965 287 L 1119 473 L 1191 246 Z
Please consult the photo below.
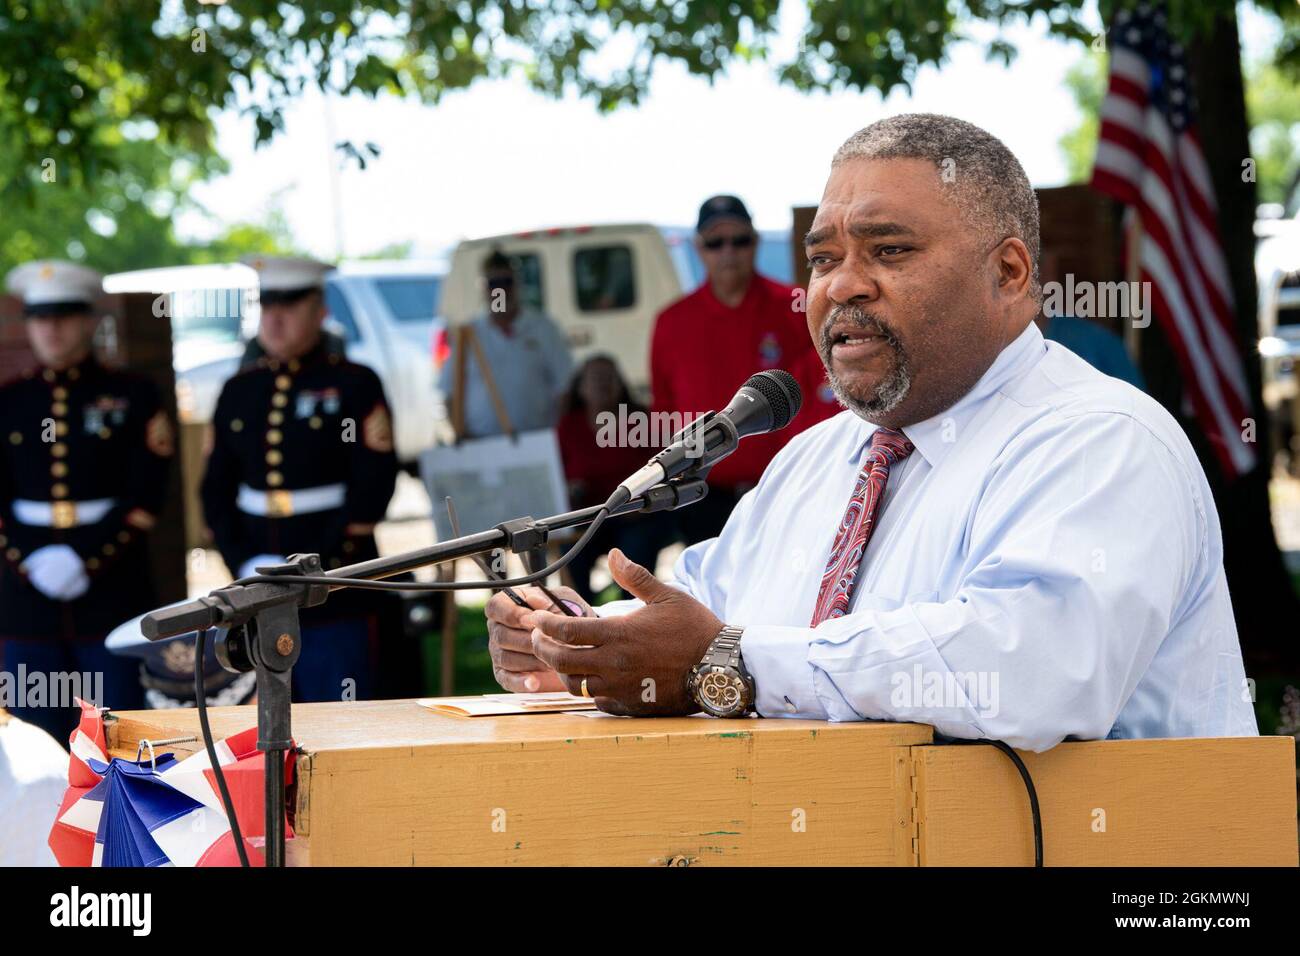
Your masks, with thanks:
M 619 485 L 615 492 L 619 503 L 644 494 L 660 481 L 694 475 L 716 464 L 749 434 L 785 428 L 802 403 L 800 384 L 789 372 L 774 368 L 751 375 L 725 408 L 682 428 L 663 451 Z

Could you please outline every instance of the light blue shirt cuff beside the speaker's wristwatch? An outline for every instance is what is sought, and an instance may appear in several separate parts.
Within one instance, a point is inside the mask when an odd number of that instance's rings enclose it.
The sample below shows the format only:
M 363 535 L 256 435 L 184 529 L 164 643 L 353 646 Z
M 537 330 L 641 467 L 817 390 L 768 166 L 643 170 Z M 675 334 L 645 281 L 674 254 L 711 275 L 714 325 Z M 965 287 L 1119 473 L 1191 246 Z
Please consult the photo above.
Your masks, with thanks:
M 754 678 L 755 709 L 763 717 L 858 721 L 829 679 L 809 663 L 806 627 L 746 626 L 740 639 L 745 670 Z

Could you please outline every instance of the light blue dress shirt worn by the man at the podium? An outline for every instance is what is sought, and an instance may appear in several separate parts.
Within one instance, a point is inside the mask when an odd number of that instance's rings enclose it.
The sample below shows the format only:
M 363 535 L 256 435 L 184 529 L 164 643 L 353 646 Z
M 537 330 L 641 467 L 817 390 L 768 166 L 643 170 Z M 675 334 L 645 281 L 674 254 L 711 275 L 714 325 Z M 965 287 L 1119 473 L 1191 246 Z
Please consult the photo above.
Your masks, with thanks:
M 1218 515 L 1182 429 L 1037 326 L 904 428 L 842 618 L 809 627 L 875 425 L 796 436 L 675 584 L 729 624 L 763 717 L 889 719 L 1045 750 L 1256 735 Z M 627 613 L 638 601 L 598 609 Z

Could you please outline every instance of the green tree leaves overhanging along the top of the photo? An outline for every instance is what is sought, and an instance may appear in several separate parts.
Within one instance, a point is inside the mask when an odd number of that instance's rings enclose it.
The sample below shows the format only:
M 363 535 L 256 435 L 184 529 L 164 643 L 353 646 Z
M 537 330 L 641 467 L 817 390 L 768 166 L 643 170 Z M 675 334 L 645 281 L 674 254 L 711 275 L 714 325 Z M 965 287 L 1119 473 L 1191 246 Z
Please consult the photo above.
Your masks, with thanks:
M 1124 5 L 1132 5 L 1126 0 Z M 1296 18 L 1294 0 L 1260 0 Z M 1114 0 L 1102 0 L 1110 16 Z M 486 77 L 521 75 L 601 109 L 634 104 L 655 65 L 712 77 L 764 60 L 801 90 L 907 87 L 942 62 L 963 27 L 1037 18 L 1088 39 L 1083 0 L 807 0 L 797 49 L 774 53 L 777 0 L 4 0 L 0 147 L 14 157 L 0 187 L 31 187 L 43 160 L 96 182 L 120 161 L 112 138 L 147 121 L 162 147 L 208 152 L 212 116 L 237 109 L 259 142 L 308 86 L 437 101 Z M 1175 31 L 1209 29 L 1231 0 L 1171 0 Z M 1283 51 L 1300 60 L 1297 49 Z M 991 57 L 1014 49 L 996 38 Z M 17 170 L 18 176 L 14 177 Z

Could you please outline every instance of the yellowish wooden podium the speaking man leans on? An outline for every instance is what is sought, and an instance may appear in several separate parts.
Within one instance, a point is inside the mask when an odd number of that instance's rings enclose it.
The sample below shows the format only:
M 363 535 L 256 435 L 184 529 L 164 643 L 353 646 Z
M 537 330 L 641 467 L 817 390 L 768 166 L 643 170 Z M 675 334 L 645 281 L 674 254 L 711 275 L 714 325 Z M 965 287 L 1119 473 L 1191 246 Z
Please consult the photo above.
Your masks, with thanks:
M 213 708 L 220 739 L 256 724 Z M 108 743 L 198 735 L 113 714 Z M 1020 778 L 910 723 L 294 706 L 294 864 L 1030 865 Z M 168 745 L 179 754 L 202 743 Z M 1292 737 L 1105 740 L 1023 753 L 1048 865 L 1296 866 Z

